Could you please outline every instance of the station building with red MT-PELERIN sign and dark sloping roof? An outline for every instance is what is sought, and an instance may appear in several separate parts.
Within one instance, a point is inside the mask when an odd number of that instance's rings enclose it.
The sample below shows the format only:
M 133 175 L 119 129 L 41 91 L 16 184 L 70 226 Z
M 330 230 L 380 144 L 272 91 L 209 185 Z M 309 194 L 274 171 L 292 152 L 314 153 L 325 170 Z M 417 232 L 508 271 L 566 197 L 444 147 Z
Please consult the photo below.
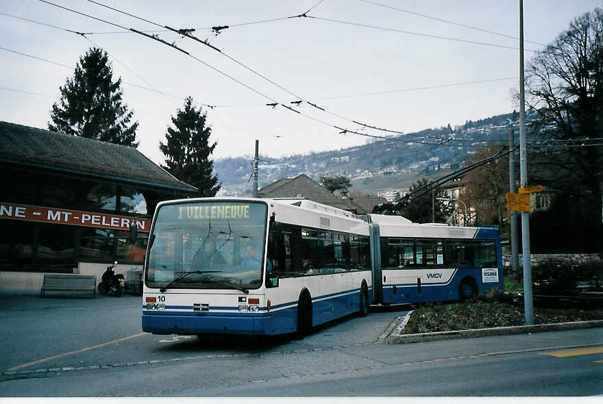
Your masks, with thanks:
M 114 261 L 140 271 L 157 203 L 197 193 L 132 147 L 2 121 L 0 175 L 0 294 L 39 294 L 44 273 L 99 282 Z

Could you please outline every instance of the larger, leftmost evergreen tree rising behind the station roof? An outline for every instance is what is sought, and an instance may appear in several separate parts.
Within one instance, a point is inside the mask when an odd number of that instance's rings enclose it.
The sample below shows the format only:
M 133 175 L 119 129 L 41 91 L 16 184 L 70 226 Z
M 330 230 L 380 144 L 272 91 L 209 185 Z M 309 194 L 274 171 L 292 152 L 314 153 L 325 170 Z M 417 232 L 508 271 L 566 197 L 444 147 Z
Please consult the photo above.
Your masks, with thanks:
M 49 130 L 138 147 L 138 122 L 130 125 L 133 112 L 122 101 L 121 77 L 113 81 L 105 51 L 94 47 L 80 57 L 60 92 L 60 103 L 52 105 Z

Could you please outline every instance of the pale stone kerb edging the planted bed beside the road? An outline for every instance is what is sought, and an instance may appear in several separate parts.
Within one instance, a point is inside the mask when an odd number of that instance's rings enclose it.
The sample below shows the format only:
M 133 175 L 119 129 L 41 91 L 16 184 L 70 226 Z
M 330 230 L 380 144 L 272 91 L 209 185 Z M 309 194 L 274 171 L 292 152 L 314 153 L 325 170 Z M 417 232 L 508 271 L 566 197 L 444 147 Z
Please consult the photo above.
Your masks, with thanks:
M 396 330 L 402 318 L 396 318 L 393 326 L 388 329 Z M 439 331 L 434 333 L 399 334 L 391 333 L 382 338 L 384 344 L 410 344 L 413 342 L 457 340 L 461 338 L 480 338 L 489 336 L 513 336 L 517 334 L 539 333 L 545 331 L 567 331 L 571 329 L 589 329 L 603 327 L 603 320 L 577 321 L 574 323 L 555 323 L 541 325 L 520 325 L 517 327 L 495 327 L 482 329 L 464 329 L 456 331 Z

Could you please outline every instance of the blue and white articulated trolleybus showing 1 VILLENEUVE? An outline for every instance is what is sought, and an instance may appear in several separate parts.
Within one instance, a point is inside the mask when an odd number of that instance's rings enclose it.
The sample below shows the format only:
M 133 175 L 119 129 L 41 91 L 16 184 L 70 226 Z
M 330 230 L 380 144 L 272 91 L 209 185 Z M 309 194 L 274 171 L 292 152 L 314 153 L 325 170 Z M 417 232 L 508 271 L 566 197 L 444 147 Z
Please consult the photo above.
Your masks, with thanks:
M 183 199 L 153 217 L 142 323 L 156 334 L 304 334 L 371 304 L 502 287 L 497 229 L 360 218 L 305 199 Z

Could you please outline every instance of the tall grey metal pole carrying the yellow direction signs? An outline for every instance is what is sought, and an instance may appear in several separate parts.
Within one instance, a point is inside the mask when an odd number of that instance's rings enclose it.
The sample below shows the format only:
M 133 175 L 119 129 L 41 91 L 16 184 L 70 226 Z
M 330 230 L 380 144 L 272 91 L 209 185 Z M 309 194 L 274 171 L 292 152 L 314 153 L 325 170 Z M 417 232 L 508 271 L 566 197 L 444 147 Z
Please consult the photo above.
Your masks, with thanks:
M 528 186 L 526 152 L 526 95 L 524 86 L 524 0 L 519 0 L 519 168 L 521 188 Z M 521 247 L 524 258 L 524 312 L 526 325 L 534 324 L 532 305 L 532 260 L 530 255 L 530 212 L 521 212 Z

